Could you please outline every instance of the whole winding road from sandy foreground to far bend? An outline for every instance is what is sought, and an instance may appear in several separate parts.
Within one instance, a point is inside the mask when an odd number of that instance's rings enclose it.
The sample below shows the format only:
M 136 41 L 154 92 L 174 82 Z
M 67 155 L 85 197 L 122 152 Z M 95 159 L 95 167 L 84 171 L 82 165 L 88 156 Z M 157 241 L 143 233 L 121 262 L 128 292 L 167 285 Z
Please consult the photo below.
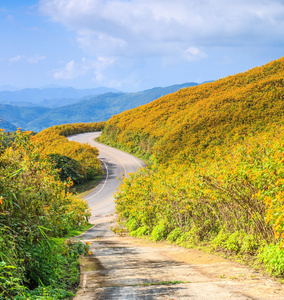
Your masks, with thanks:
M 96 143 L 99 133 L 69 139 L 99 149 L 105 178 L 85 197 L 94 226 L 80 236 L 92 255 L 81 259 L 80 288 L 74 300 L 284 300 L 283 285 L 248 267 L 194 249 L 116 236 L 113 193 L 121 173 L 145 164 L 122 151 Z

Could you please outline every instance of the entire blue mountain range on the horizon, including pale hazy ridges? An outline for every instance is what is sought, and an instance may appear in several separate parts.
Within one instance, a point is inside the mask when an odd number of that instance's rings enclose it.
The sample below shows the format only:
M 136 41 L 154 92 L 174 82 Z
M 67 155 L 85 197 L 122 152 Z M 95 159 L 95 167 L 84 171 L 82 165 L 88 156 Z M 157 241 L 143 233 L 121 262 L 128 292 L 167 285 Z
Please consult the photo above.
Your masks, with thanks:
M 198 84 L 189 82 L 169 87 L 156 87 L 136 93 L 114 91 L 99 95 L 99 92 L 104 91 L 103 88 L 100 90 L 66 88 L 66 93 L 63 93 L 63 89 L 58 91 L 57 89 L 44 89 L 46 94 L 43 93 L 43 90 L 38 89 L 0 92 L 0 118 L 4 117 L 0 128 L 11 131 L 10 128 L 21 127 L 24 130 L 39 132 L 47 127 L 65 123 L 106 121 L 115 114 L 150 103 L 182 88 L 196 85 Z M 97 94 L 88 95 L 91 91 Z M 1 104 L 5 99 L 4 93 L 10 97 L 9 104 Z M 66 95 L 69 95 L 70 98 Z M 15 104 L 11 105 L 11 103 Z M 69 105 L 63 103 L 69 103 Z M 54 107 L 48 107 L 52 104 Z M 7 127 L 4 121 L 8 122 Z

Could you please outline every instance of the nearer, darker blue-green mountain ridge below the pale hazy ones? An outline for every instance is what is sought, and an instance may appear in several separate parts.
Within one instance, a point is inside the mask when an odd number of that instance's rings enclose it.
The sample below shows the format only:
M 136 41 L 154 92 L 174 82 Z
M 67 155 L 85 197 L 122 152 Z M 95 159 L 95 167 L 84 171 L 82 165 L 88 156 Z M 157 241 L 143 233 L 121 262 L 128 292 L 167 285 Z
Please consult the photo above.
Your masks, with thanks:
M 126 109 L 149 103 L 196 83 L 185 83 L 165 88 L 154 88 L 137 93 L 107 93 L 86 97 L 78 103 L 61 107 L 15 107 L 0 104 L 0 116 L 26 130 L 39 132 L 47 127 L 65 123 L 99 122 L 108 120 Z

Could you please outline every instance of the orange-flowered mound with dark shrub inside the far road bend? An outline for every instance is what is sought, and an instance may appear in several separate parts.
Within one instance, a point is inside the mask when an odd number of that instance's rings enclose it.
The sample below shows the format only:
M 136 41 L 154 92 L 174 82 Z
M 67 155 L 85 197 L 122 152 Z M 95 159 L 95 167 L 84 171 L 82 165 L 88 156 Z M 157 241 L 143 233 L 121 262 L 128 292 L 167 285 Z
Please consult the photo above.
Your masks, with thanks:
M 75 184 L 93 180 L 102 174 L 98 149 L 88 144 L 68 141 L 69 135 L 99 131 L 101 123 L 78 123 L 54 126 L 38 133 L 34 138 L 42 154 L 48 155 L 62 180 L 71 178 Z

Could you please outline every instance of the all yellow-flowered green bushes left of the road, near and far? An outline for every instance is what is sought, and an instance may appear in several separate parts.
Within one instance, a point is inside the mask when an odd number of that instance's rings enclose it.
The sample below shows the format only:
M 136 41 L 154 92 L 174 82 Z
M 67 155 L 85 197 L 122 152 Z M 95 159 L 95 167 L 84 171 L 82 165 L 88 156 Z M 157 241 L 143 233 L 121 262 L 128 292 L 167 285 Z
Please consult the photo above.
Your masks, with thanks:
M 97 150 L 80 148 L 63 136 L 101 129 L 97 124 L 84 126 L 51 128 L 46 137 L 20 130 L 0 134 L 0 299 L 71 299 L 76 291 L 78 258 L 89 249 L 70 237 L 90 227 L 90 211 L 70 192 L 72 177 L 63 177 L 50 155 L 61 155 L 60 146 L 65 147 L 64 158 L 76 162 L 68 165 L 68 172 L 77 172 L 83 181 L 99 176 Z M 48 145 L 54 145 L 54 152 Z M 93 166 L 91 173 L 88 168 Z

